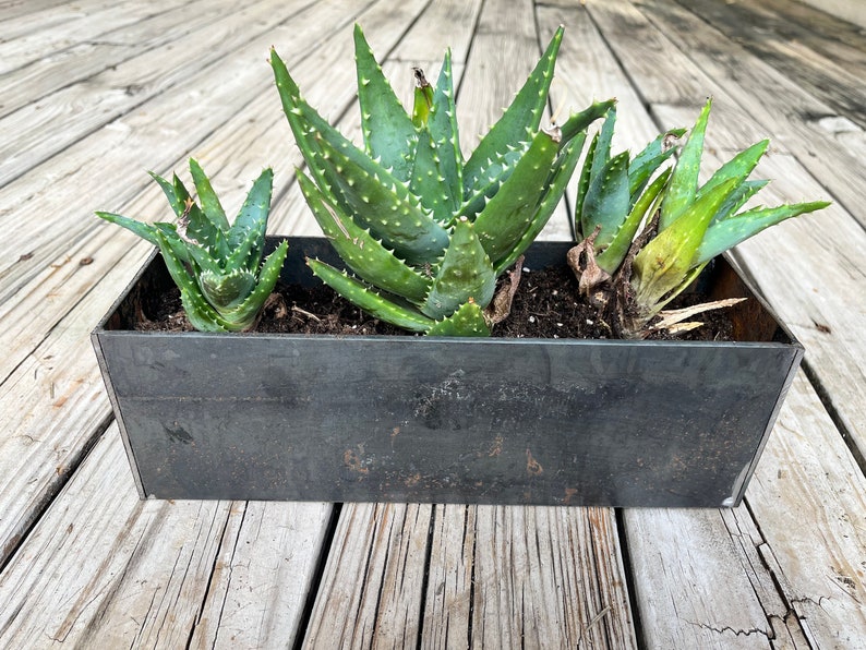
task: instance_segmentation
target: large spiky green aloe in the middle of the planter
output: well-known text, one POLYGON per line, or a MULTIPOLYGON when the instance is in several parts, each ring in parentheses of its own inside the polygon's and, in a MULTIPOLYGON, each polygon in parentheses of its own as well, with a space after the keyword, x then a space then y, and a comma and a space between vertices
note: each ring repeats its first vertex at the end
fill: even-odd
POLYGON ((541 232, 577 166, 587 125, 613 105, 597 103, 561 128, 541 128, 562 36, 557 31, 468 159, 460 151, 450 52, 435 86, 416 70, 409 112, 356 25, 364 142, 358 148, 301 97, 272 50, 277 89, 309 171, 298 171, 300 188, 348 267, 308 260, 313 273, 398 327, 489 335, 507 312, 494 301, 498 276, 541 232))

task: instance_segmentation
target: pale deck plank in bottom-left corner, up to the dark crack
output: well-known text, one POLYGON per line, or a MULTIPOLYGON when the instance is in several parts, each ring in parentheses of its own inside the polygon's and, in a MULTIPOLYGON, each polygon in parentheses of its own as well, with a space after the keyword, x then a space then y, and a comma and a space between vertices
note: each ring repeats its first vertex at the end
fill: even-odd
POLYGON ((229 503, 140 502, 112 426, 0 576, 0 645, 184 643, 237 515, 229 503))

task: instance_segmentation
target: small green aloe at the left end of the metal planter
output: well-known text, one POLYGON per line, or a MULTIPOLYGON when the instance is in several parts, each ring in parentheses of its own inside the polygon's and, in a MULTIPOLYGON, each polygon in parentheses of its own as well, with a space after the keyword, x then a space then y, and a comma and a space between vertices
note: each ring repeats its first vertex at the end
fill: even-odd
POLYGON ((253 182, 229 226, 211 181, 193 159, 190 172, 201 206, 177 174, 170 182, 151 173, 168 197, 177 222, 147 224, 113 213, 96 214, 159 248, 193 327, 202 332, 250 329, 274 290, 288 251, 284 241, 262 262, 274 173, 265 169, 253 182))

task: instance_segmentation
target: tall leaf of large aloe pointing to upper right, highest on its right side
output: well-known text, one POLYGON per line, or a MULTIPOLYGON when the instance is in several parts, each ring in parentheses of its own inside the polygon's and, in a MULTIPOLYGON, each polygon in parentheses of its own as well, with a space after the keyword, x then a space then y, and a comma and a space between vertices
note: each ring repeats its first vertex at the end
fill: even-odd
POLYGON ((483 179, 489 176, 486 169, 491 161, 501 160, 509 146, 525 139, 527 132, 534 133, 539 130, 548 104, 548 92, 553 81, 553 70, 562 38, 563 27, 560 27, 512 105, 481 139, 478 147, 466 161, 464 196, 476 193, 479 181, 483 183, 483 179))

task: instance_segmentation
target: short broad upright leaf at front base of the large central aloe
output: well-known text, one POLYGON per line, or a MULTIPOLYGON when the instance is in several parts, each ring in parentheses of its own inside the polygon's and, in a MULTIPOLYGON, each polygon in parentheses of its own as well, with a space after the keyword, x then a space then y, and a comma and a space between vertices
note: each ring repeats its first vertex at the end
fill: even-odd
POLYGON ((421 311, 438 320, 454 313, 469 299, 486 306, 495 289, 496 274, 490 257, 476 234, 476 228, 464 217, 454 226, 450 244, 421 311))

